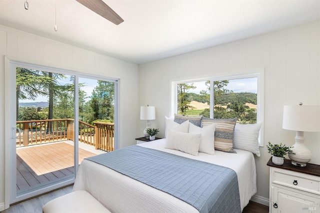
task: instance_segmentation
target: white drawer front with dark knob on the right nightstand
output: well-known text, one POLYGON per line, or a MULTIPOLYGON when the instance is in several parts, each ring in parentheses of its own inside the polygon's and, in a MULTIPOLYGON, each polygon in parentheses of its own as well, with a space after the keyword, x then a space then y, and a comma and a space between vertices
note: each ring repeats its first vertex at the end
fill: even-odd
POLYGON ((273 170, 272 183, 320 194, 320 180, 287 170, 273 170))

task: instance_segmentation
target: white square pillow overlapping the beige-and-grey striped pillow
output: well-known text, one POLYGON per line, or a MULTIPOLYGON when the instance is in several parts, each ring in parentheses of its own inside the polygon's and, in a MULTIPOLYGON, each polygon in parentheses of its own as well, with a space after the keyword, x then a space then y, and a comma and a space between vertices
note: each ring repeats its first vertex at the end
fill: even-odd
POLYGON ((202 128, 189 123, 189 133, 200 133, 201 141, 199 146, 199 152, 204 152, 209 155, 214 155, 214 130, 216 124, 204 126, 202 128))

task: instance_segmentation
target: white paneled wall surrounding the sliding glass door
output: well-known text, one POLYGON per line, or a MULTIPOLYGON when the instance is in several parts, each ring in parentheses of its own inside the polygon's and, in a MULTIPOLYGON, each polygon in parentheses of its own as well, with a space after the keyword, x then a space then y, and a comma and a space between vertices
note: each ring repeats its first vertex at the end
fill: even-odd
POLYGON ((27 63, 119 79, 119 148, 135 143, 138 66, 0 25, 0 211, 4 203, 4 55, 27 63), (122 134, 125 133, 125 134, 122 134))

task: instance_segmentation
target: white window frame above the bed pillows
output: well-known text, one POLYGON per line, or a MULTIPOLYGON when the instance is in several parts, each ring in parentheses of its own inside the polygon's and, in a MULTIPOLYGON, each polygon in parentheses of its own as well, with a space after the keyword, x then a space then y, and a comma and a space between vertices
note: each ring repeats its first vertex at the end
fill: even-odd
POLYGON ((233 80, 240 78, 257 78, 257 115, 256 123, 261 123, 260 134, 259 134, 259 146, 263 147, 263 121, 264 121, 264 68, 254 68, 238 70, 233 72, 221 72, 215 73, 208 76, 193 76, 184 77, 180 79, 170 80, 170 100, 169 100, 169 117, 173 118, 174 114, 177 112, 177 84, 180 83, 192 83, 197 81, 210 80, 210 118, 213 117, 213 82, 220 80, 233 80))

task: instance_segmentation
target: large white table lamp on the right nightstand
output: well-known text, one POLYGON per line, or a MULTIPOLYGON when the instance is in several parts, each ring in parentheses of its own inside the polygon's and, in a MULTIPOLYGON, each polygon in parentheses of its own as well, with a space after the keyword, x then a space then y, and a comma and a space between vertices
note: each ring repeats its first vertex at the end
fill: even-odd
POLYGON ((320 131, 320 107, 319 106, 284 106, 282 129, 296 131, 293 153, 288 157, 291 164, 305 167, 311 160, 311 152, 304 146, 304 132, 320 131))

